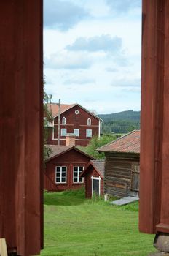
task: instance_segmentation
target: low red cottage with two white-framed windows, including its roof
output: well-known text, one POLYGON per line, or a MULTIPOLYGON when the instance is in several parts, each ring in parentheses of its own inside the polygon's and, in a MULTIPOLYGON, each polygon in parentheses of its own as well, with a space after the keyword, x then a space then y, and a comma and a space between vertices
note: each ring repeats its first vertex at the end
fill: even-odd
POLYGON ((50 146, 52 153, 44 170, 44 189, 63 191, 84 186, 80 174, 93 157, 75 146, 50 146))

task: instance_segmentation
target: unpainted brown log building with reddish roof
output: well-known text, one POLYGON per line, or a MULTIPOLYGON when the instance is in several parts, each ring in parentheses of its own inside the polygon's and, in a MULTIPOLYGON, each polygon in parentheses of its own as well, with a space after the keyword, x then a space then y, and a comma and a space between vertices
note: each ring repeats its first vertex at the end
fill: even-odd
POLYGON ((140 173, 140 130, 98 148, 106 155, 104 193, 108 196, 137 196, 140 173))

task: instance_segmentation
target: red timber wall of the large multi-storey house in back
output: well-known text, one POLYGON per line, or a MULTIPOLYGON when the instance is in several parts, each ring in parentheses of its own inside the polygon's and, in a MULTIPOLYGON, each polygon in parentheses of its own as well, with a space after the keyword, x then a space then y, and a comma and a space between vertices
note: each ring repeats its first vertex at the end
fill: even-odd
MULTIPOLYGON (((54 121, 55 127, 55 138, 58 138, 58 117, 54 121)), ((60 115, 60 130, 66 128, 67 133, 74 133, 74 129, 79 129, 79 137, 76 137, 75 146, 87 146, 91 138, 86 137, 86 130, 92 129, 92 135, 98 136, 99 134, 99 120, 95 116, 90 115, 84 109, 80 108, 78 105, 67 110, 65 113, 60 115), (79 110, 79 114, 75 114, 75 110, 79 110), (62 118, 66 117, 66 125, 62 124, 62 118), (87 118, 91 118, 91 125, 87 125, 87 118)), ((48 144, 57 145, 58 140, 52 140, 52 132, 50 129, 48 144)), ((60 145, 66 145, 66 137, 60 136, 60 145)))

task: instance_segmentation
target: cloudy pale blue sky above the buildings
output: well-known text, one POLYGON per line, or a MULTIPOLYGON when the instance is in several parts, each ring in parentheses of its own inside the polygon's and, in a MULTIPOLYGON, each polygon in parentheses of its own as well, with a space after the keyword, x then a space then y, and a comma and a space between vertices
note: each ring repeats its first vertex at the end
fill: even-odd
POLYGON ((95 113, 141 108, 141 0, 44 0, 52 102, 95 113))

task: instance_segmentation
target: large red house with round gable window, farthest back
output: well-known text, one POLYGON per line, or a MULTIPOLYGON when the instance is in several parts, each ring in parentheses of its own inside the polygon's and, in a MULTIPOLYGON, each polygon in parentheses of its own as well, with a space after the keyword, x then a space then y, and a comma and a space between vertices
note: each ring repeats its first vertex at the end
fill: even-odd
POLYGON ((74 134, 76 135, 76 146, 87 146, 94 135, 100 136, 101 118, 98 118, 81 105, 61 104, 59 109, 58 103, 50 103, 47 107, 52 114, 52 123, 47 127, 47 144, 66 145, 66 135, 74 134), (60 130, 59 143, 58 129, 60 130))

